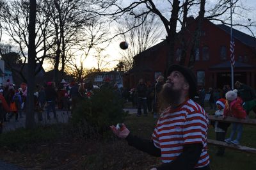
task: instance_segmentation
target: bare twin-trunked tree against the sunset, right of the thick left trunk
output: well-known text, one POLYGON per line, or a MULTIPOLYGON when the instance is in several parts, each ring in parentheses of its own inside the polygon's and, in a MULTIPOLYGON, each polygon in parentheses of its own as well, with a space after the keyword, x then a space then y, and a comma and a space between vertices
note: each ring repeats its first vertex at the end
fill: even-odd
POLYGON ((84 0, 51 0, 47 1, 51 9, 52 29, 55 32, 55 45, 52 48, 54 54, 54 81, 58 82, 63 77, 64 66, 67 63, 67 50, 81 42, 81 31, 88 23, 89 13, 82 12, 84 0), (61 65, 61 66, 60 66, 61 65), (59 67, 61 77, 59 77, 59 67))

